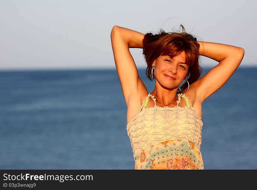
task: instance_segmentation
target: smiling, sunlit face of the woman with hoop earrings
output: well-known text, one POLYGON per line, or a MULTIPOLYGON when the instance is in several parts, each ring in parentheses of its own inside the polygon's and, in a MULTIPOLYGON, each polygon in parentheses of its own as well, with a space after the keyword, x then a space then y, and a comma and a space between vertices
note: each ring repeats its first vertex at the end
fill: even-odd
POLYGON ((154 60, 153 66, 156 82, 168 89, 177 89, 188 73, 184 51, 173 58, 160 55, 154 60))

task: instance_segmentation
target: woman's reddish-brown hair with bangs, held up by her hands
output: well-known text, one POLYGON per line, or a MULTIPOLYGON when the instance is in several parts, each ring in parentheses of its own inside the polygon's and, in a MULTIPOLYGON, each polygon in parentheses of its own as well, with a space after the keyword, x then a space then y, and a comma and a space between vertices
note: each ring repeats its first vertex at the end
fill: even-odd
MULTIPOLYGON (((157 34, 147 33, 143 39, 143 54, 147 64, 146 76, 152 80, 152 62, 160 55, 168 55, 173 58, 185 51, 185 64, 189 66, 187 81, 192 84, 198 80, 202 74, 202 68, 199 65, 199 43, 197 39, 185 32, 182 27, 182 32, 165 32, 160 30, 157 34)), ((154 75, 154 73, 153 73, 154 75)), ((184 91, 188 84, 185 82, 180 89, 184 91)), ((178 89, 177 93, 180 90, 178 89)))

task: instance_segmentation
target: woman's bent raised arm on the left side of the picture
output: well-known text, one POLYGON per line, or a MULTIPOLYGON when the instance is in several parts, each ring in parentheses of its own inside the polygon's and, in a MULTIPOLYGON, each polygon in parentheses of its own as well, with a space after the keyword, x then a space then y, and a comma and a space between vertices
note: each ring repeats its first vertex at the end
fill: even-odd
MULTIPOLYGON (((144 34, 114 26, 111 31, 112 51, 121 89, 128 107, 131 98, 140 98, 147 89, 138 76, 138 70, 129 48, 143 48, 144 34)), ((138 99, 139 101, 139 99, 138 99)))

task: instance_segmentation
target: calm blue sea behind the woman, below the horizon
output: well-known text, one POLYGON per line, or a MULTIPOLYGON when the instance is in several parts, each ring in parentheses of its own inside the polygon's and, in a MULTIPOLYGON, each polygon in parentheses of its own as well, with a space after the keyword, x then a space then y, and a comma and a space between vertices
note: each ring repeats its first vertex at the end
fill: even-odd
MULTIPOLYGON (((204 169, 257 169, 256 73, 239 67, 204 101, 204 169)), ((0 92, 0 169, 134 169, 115 68, 1 71, 0 92)))

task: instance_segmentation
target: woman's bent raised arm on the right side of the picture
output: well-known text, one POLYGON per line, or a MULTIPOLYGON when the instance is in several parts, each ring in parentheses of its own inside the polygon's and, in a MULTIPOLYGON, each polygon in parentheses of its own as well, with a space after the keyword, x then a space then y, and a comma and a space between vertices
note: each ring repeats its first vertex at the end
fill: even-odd
POLYGON ((219 64, 202 78, 197 80, 196 95, 203 102, 220 89, 232 76, 244 57, 244 49, 232 45, 197 41, 200 44, 199 55, 209 57, 219 64))

